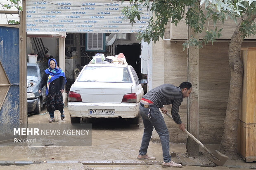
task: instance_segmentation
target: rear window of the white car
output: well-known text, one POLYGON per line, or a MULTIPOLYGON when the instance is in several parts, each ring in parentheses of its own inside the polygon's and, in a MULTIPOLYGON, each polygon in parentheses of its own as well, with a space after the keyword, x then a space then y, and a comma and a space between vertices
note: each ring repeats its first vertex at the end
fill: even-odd
POLYGON ((78 82, 114 82, 132 83, 127 68, 119 67, 86 67, 78 82))

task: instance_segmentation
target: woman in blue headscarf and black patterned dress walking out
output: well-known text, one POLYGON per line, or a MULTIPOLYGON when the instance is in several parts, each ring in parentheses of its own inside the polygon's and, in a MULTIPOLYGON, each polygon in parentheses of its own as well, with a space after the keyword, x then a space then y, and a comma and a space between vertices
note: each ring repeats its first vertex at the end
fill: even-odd
POLYGON ((43 86, 46 86, 47 111, 50 114, 50 120, 48 122, 52 123, 55 121, 55 110, 59 110, 62 120, 65 118, 62 93, 66 84, 66 77, 62 69, 58 67, 55 59, 51 58, 48 61, 48 65, 49 68, 45 70, 38 92, 41 93, 43 86))

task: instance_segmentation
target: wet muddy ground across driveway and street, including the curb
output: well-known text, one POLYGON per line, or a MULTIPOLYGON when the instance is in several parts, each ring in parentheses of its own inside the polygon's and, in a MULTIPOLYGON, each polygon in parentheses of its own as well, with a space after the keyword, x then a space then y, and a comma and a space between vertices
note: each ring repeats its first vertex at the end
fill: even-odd
MULTIPOLYGON (((42 110, 41 114, 28 116, 28 123, 48 123, 49 114, 42 110)), ((69 112, 64 108, 66 118, 60 119, 55 112, 55 122, 70 123, 69 112)), ((177 126, 178 128, 178 126, 177 126)), ((92 146, 0 146, 0 169, 54 169, 54 170, 161 170, 178 169, 162 168, 162 151, 159 142, 150 142, 148 154, 156 156, 154 161, 137 160, 137 154, 142 139, 143 124, 130 125, 124 119, 95 119, 92 121, 92 146)), ((217 145, 206 145, 211 151, 217 145)), ((240 160, 228 160, 222 167, 207 159, 207 154, 189 157, 186 154, 186 144, 170 143, 170 151, 177 156, 172 158, 176 163, 182 163, 185 170, 244 170, 256 169, 256 163, 246 163, 240 160)))

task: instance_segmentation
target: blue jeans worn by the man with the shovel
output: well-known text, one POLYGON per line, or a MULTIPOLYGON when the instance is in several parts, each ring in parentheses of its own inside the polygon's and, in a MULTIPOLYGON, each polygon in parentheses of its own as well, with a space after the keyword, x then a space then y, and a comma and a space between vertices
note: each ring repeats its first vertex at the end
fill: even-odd
POLYGON ((164 162, 168 163, 171 161, 171 155, 169 153, 169 131, 166 127, 164 117, 162 116, 158 107, 150 108, 150 119, 148 119, 147 117, 148 112, 149 108, 140 106, 140 115, 144 124, 144 132, 142 136, 139 154, 147 154, 147 148, 149 146, 149 141, 152 136, 152 131, 154 127, 161 140, 164 162))

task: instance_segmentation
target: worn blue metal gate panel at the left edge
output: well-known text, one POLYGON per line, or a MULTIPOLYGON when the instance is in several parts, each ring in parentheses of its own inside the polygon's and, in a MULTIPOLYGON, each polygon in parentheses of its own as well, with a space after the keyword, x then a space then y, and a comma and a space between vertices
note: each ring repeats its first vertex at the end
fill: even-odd
POLYGON ((0 123, 19 124, 19 28, 0 26, 0 123))

